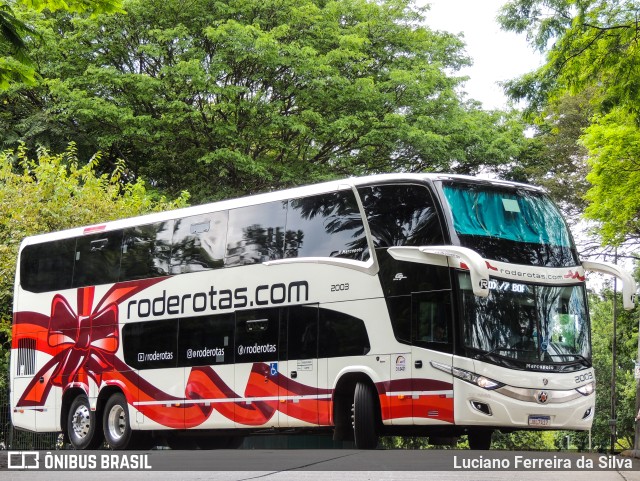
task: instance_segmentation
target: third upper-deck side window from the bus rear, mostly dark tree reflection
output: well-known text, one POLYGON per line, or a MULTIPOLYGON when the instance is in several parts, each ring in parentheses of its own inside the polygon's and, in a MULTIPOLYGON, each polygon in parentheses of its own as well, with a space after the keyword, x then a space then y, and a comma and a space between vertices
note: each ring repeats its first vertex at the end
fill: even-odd
POLYGON ((173 221, 125 229, 120 281, 169 275, 173 221))

